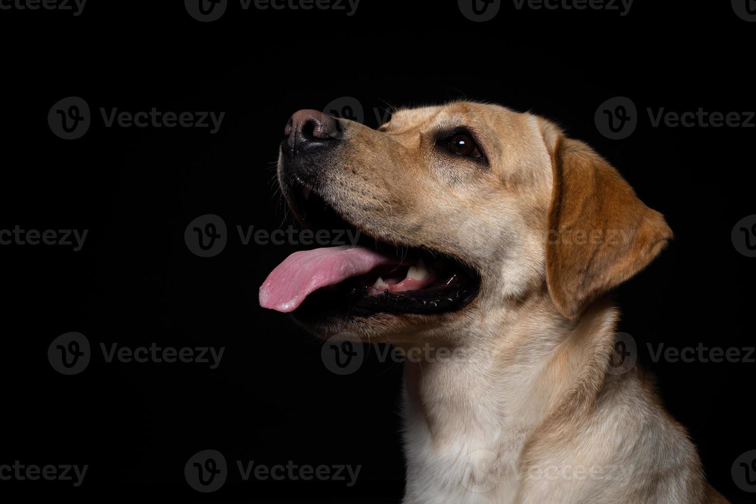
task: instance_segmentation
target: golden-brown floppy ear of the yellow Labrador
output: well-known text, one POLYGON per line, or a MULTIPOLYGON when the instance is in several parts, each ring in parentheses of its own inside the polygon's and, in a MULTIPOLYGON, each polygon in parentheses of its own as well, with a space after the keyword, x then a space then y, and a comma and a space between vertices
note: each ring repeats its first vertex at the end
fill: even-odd
POLYGON ((577 319, 603 292, 646 267, 672 238, 605 159, 541 121, 553 190, 546 244, 547 286, 559 312, 577 319))

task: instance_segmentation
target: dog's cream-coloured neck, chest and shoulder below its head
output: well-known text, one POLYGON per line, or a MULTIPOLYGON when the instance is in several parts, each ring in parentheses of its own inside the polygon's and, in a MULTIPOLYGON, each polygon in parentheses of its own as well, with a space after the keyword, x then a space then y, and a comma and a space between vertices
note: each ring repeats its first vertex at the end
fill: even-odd
POLYGON ((641 373, 609 373, 615 309, 568 323, 532 302, 448 360, 405 363, 404 504, 719 502, 641 373))

